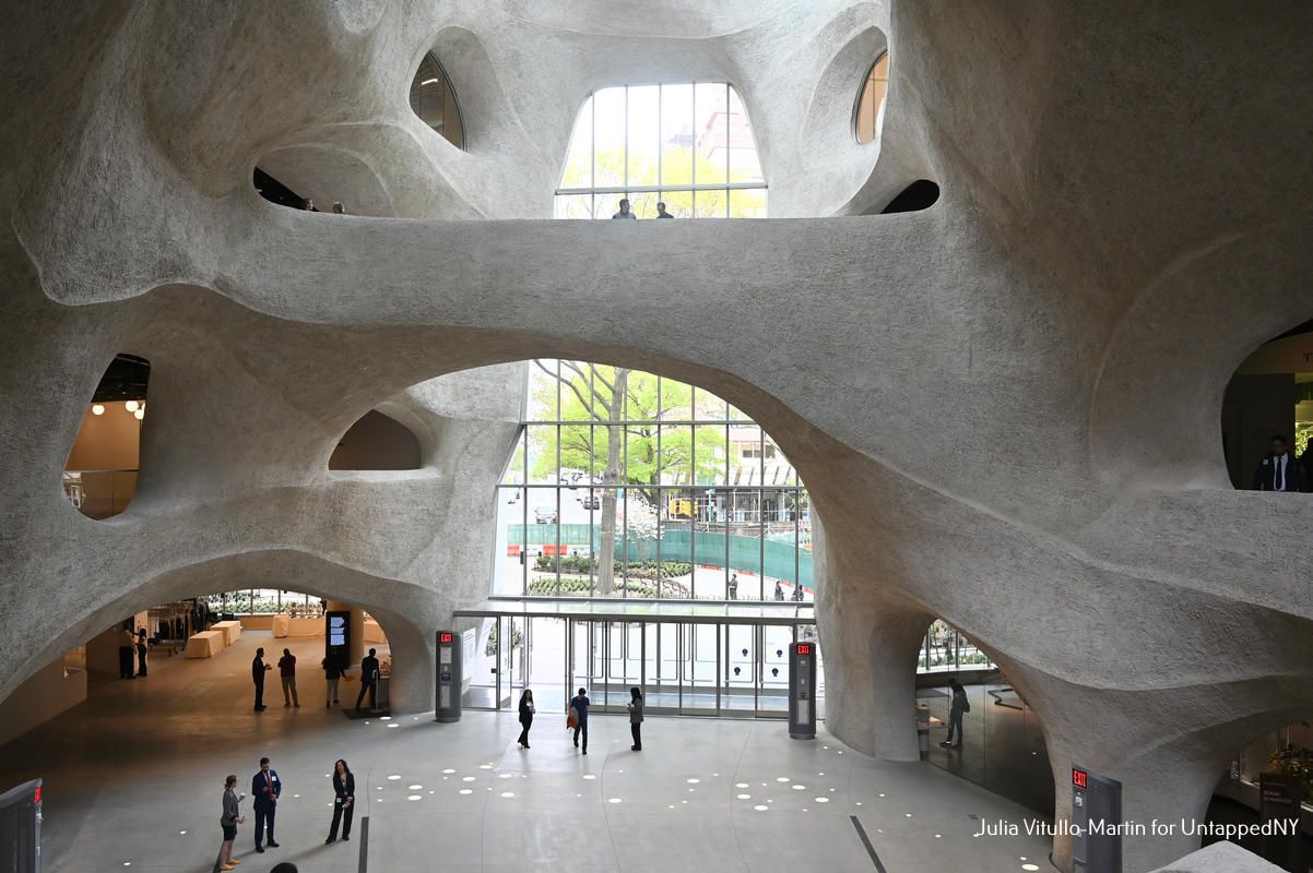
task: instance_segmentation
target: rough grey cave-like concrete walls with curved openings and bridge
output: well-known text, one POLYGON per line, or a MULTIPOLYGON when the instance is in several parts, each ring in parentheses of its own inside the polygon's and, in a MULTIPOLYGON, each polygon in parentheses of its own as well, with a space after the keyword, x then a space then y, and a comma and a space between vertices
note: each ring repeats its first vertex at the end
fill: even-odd
MULTIPOLYGON (((378 613, 423 708, 428 634, 486 590, 517 398, 507 370, 406 389, 559 354, 706 387, 794 460, 856 748, 914 755, 935 615, 1044 718, 1058 813, 1078 763, 1128 818, 1200 815, 1236 748, 1313 714, 1313 502, 1230 490, 1218 439, 1238 363, 1313 316, 1313 8, 704 5, 9 10, 0 693, 240 573, 378 613), (406 105, 431 47, 467 152, 406 105), (739 89, 780 220, 534 220, 591 89, 693 77, 739 89), (260 201, 267 156, 378 216, 260 201), (923 177, 932 208, 871 214, 923 177), (118 351, 152 360, 151 412, 133 506, 96 523, 58 473, 118 351), (379 404, 425 469, 328 475, 379 404)), ((1195 845, 1128 839, 1128 869, 1195 845)))

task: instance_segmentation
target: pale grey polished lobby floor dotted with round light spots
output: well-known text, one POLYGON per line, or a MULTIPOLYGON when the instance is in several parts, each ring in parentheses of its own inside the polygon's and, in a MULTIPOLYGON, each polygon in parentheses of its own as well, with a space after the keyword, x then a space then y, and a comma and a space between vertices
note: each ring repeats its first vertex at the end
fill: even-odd
MULTIPOLYGON (((368 869, 876 870, 856 817, 889 873, 1052 869, 1041 838, 973 835, 981 819, 1033 813, 930 764, 876 762, 823 730, 790 741, 779 721, 650 718, 630 751, 618 717, 592 721, 587 758, 563 716, 540 716, 532 748, 511 713, 351 721, 326 709, 322 641, 293 642, 306 665, 299 709, 270 678, 251 710, 249 661, 285 641, 247 633, 210 661, 156 658, 151 675, 92 684, 91 699, 0 747, 0 785, 46 780, 46 870, 202 873, 219 843, 223 777, 247 790, 261 755, 285 783, 281 848, 256 855, 252 817, 236 843, 246 873, 294 861, 311 873, 361 868, 352 840, 324 845, 328 772, 345 758, 368 817, 368 869)), ((355 699, 358 686, 343 686, 355 699)))

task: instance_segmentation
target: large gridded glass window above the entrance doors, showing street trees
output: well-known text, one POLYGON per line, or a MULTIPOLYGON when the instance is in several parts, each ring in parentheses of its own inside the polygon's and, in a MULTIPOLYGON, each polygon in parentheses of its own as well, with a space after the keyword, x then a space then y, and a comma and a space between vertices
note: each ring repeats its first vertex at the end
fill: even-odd
POLYGON ((687 383, 534 360, 494 594, 809 602, 811 507, 751 418, 687 383))

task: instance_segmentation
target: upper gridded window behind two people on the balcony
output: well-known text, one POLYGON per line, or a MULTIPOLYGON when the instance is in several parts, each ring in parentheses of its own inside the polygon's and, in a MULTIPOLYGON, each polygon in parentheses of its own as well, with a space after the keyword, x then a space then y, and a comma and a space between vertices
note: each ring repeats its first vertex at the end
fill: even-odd
POLYGON ((752 125, 726 83, 604 88, 575 121, 555 216, 765 218, 752 125))

